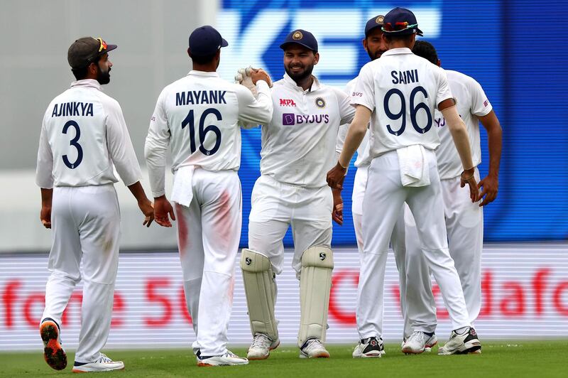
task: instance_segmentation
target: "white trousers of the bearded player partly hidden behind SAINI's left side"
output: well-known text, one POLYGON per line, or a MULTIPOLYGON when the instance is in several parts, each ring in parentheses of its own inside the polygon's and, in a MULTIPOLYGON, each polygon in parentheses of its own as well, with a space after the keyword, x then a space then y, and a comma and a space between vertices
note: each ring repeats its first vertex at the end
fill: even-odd
MULTIPOLYGON (((363 218, 363 200, 365 195, 365 189, 367 185, 367 178, 368 178, 368 166, 360 166, 357 168, 355 173, 355 179, 353 183, 353 194, 351 195, 351 215, 353 215, 353 226, 355 229, 355 237, 357 239, 357 249, 359 249, 359 261, 361 266, 363 264, 371 264, 376 265, 379 264, 378 261, 374 261, 376 259, 381 258, 381 254, 368 254, 366 255, 366 261, 364 262, 363 257, 363 226, 362 226, 362 218, 363 218)), ((405 229, 404 229, 404 218, 403 214, 401 213, 398 220, 395 222, 395 226, 393 228, 393 235, 391 237, 391 248, 393 249, 395 255, 395 263, 398 269, 398 276, 400 282, 406 281, 406 272, 405 272, 405 253, 406 253, 406 246, 405 246, 405 229)), ((381 280, 381 276, 373 275, 368 277, 368 284, 370 286, 382 286, 383 281, 381 280)), ((400 285, 400 312, 403 314, 403 318, 405 317, 405 286, 400 285)), ((379 306, 366 306, 365 308, 364 318, 368 320, 369 323, 379 325, 379 334, 382 334, 382 318, 383 318, 383 310, 379 306)), ((406 337, 406 334, 404 335, 406 337)))

